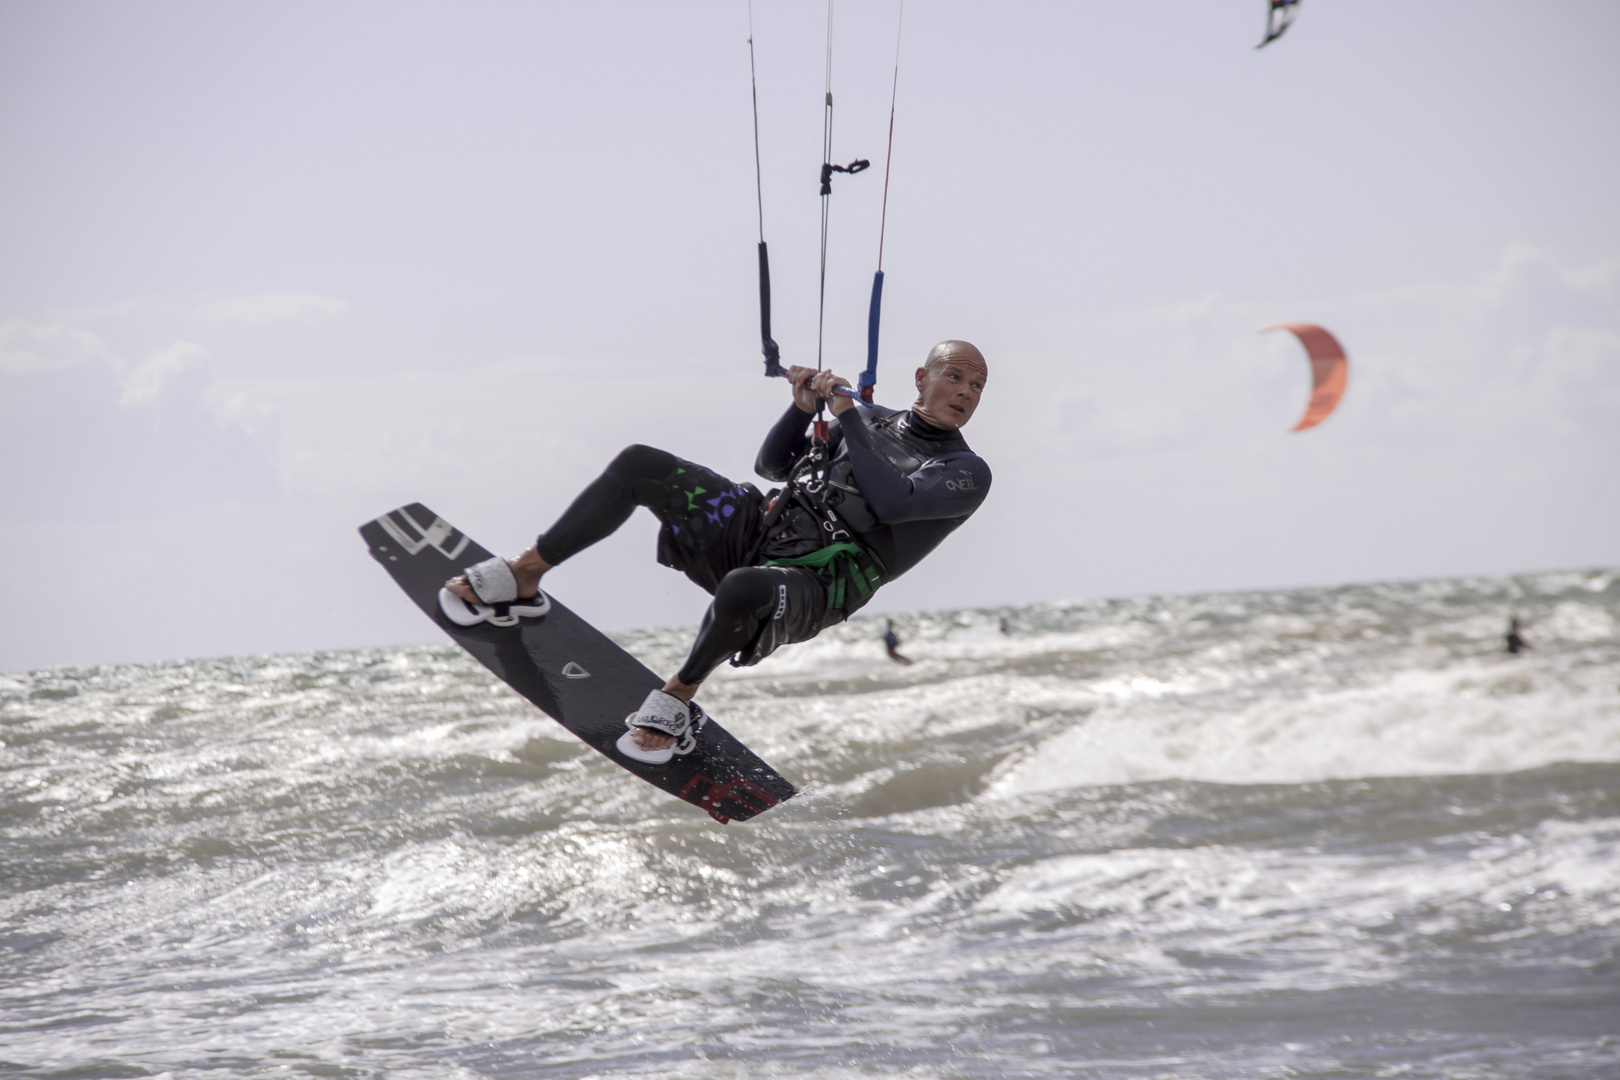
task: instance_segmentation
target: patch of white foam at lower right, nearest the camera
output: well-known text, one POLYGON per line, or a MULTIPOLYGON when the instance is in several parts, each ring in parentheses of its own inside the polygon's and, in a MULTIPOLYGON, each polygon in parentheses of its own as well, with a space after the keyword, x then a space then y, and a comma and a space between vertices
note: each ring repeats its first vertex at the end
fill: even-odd
POLYGON ((1545 821, 1448 855, 1223 845, 1059 855, 1011 871, 974 912, 991 923, 1063 916, 1077 939, 1071 950, 1090 941, 1119 959, 1124 949, 1139 970, 1176 972, 1171 949, 1196 942, 1205 952, 1309 957, 1309 967, 1273 978, 1293 989, 1340 986, 1398 976, 1406 959, 1392 944, 1456 933, 1487 912, 1518 910, 1521 934, 1620 923, 1617 844, 1620 823, 1597 819, 1545 821))

